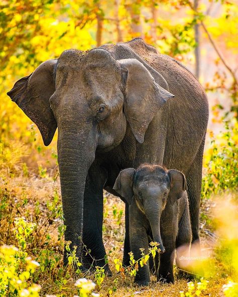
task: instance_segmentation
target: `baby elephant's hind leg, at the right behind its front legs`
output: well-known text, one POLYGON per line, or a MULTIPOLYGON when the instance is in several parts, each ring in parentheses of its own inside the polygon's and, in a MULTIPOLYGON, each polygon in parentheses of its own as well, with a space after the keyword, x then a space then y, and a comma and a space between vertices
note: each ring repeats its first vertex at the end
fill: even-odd
POLYGON ((189 266, 191 240, 191 223, 188 205, 186 205, 179 221, 178 235, 176 238, 176 265, 182 270, 187 270, 189 266))

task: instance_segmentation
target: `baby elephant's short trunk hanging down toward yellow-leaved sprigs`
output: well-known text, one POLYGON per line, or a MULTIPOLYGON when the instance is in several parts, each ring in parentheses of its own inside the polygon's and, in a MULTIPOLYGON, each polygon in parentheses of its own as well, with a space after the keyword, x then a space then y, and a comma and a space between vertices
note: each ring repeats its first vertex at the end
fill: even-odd
POLYGON ((150 214, 147 215, 147 218, 151 226, 153 241, 158 242, 158 248, 160 249, 160 253, 164 253, 165 248, 163 246, 160 234, 160 213, 160 211, 155 212, 155 210, 153 210, 153 213, 150 212, 150 214))

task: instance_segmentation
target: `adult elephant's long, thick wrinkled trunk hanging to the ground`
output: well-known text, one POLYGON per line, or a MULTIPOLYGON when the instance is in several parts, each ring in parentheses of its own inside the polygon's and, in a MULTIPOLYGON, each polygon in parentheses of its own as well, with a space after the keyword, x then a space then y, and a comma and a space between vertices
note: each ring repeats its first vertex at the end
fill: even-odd
MULTIPOLYGON (((58 163, 66 225, 65 240, 71 241, 70 250, 77 246, 76 255, 81 259, 84 188, 89 167, 95 158, 96 137, 92 125, 86 127, 81 121, 80 124, 62 121, 58 123, 58 129, 58 163)), ((67 263, 66 250, 64 263, 67 263)))

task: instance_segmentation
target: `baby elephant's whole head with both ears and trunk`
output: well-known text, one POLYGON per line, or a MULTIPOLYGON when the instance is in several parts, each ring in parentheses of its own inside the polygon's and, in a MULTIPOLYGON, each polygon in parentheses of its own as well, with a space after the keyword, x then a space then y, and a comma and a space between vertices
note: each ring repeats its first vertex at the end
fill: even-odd
POLYGON ((160 217, 166 203, 174 204, 187 190, 185 176, 177 170, 166 170, 158 165, 142 165, 137 170, 128 168, 118 175, 113 189, 129 205, 135 199, 151 226, 153 240, 161 253, 165 251, 160 235, 160 217))

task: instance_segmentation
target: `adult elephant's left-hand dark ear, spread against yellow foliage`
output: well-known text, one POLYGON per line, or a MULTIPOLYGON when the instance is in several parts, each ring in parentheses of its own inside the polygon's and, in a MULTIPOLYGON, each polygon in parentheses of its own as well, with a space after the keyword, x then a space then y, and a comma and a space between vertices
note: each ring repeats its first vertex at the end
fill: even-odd
POLYGON ((17 81, 7 94, 25 114, 38 126, 44 144, 49 145, 57 122, 49 99, 55 91, 54 66, 57 60, 42 63, 29 76, 17 81))

